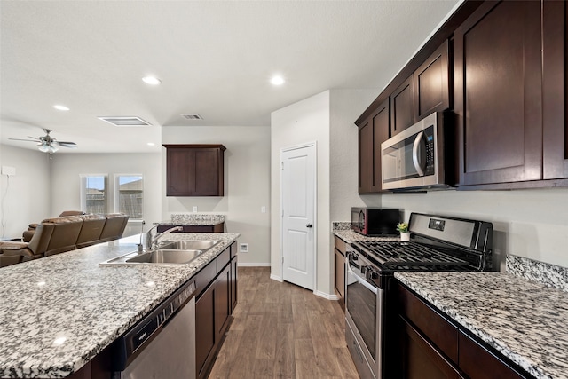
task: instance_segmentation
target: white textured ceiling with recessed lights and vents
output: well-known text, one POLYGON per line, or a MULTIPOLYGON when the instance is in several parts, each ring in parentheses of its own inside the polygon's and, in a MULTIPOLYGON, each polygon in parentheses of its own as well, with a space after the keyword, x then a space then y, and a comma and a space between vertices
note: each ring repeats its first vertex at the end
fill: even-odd
POLYGON ((1 142, 35 149, 8 138, 49 128, 74 153, 159 151, 162 127, 268 127, 272 111, 321 91, 378 95, 456 3, 2 0, 1 142), (276 73, 287 83, 273 87, 276 73))

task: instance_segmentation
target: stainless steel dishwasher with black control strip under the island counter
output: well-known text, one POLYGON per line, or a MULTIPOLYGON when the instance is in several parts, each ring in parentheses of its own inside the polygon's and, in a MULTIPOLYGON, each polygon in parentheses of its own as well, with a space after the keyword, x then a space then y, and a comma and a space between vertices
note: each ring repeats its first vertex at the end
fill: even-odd
POLYGON ((195 282, 177 289, 113 349, 113 379, 195 378, 195 282))

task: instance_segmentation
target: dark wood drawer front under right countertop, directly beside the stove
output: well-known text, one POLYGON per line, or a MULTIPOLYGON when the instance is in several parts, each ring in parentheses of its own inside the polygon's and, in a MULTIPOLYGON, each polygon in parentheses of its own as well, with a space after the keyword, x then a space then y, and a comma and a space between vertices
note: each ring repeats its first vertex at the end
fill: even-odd
POLYGON ((398 286, 398 299, 400 314, 457 364, 458 328, 402 286, 398 286))

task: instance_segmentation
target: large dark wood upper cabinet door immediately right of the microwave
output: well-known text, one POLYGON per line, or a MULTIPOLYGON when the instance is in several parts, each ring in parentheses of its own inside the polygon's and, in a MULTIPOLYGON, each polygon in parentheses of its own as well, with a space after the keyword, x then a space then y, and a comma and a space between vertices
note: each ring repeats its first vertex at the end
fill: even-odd
POLYGON ((458 185, 542 178, 540 2, 486 2, 454 44, 458 185))

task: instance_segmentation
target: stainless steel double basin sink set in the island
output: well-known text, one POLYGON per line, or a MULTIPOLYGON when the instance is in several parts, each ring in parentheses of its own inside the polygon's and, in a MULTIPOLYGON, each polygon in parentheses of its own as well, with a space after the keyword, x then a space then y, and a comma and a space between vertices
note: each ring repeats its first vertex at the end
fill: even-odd
POLYGON ((121 257, 109 259, 99 265, 186 265, 205 251, 213 248, 219 241, 163 241, 157 249, 133 251, 121 257))

